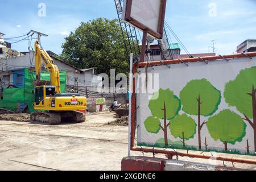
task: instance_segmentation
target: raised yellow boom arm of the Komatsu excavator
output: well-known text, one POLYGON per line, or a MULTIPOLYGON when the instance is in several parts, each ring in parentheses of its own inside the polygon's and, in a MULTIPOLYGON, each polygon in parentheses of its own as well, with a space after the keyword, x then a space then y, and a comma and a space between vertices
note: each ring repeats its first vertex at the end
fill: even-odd
POLYGON ((36 70, 36 80, 40 81, 41 74, 41 60, 44 66, 50 73, 51 85, 55 86, 55 91, 60 93, 60 72, 57 65, 54 63, 51 56, 48 55, 46 50, 44 50, 38 41, 35 42, 35 70, 36 70))

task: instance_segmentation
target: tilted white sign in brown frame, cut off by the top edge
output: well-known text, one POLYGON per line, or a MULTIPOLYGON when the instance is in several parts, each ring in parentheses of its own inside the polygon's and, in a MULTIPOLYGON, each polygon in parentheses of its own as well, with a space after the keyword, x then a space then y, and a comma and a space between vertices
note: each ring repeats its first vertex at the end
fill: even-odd
POLYGON ((156 39, 162 39, 166 0, 126 0, 123 19, 133 26, 147 30, 156 39))

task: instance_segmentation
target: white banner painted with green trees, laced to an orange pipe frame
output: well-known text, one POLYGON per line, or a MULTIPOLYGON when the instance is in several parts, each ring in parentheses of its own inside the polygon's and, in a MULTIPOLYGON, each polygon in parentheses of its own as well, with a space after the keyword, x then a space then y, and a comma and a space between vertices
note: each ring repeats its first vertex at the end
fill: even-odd
POLYGON ((152 68, 159 88, 137 93, 138 146, 255 155, 256 57, 152 68))

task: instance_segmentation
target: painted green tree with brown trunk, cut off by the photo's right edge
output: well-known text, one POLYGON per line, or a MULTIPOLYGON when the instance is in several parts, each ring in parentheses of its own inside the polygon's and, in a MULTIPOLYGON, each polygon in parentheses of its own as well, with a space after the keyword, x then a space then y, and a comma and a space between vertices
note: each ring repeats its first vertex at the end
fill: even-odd
POLYGON ((254 151, 256 152, 256 67, 243 69, 235 80, 225 86, 225 101, 240 111, 254 131, 254 151))

